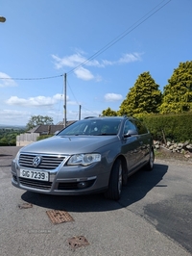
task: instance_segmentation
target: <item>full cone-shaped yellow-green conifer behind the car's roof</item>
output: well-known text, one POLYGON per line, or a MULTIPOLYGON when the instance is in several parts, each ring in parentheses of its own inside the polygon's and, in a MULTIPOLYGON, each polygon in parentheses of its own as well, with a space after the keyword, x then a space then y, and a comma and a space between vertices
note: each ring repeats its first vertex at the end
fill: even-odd
POLYGON ((118 115, 156 114, 160 104, 161 91, 150 72, 144 72, 122 102, 118 115))

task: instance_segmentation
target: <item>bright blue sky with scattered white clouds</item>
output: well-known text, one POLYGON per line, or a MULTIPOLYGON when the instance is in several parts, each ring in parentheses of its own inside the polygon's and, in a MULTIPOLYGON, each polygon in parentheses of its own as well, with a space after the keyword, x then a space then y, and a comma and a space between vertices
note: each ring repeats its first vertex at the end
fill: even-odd
POLYGON ((0 0, 0 124, 118 111, 143 72, 163 91, 192 61, 191 13, 192 0, 0 0))

